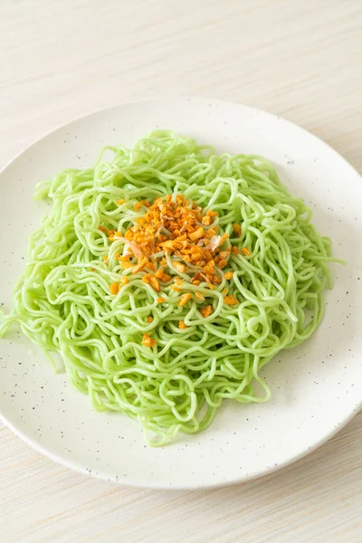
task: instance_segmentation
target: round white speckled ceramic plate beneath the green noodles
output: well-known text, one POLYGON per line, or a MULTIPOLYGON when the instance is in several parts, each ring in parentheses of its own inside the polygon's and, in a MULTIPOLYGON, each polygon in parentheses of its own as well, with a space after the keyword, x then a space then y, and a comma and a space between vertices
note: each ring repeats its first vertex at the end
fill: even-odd
POLYGON ((362 398, 362 181, 318 138, 259 110, 221 101, 153 100, 75 120, 37 141, 0 175, 0 303, 12 306, 28 234, 46 206, 37 181, 64 167, 90 167, 100 148, 175 129, 218 151, 270 158, 314 223, 348 266, 332 266, 335 287, 317 333, 275 357, 263 374, 265 405, 228 402, 214 424, 161 449, 146 446, 140 425, 98 414, 87 396, 54 375, 43 352, 19 333, 0 340, 0 411, 10 428, 53 460, 108 481, 153 488, 200 488, 246 481, 295 461, 356 414, 362 398))

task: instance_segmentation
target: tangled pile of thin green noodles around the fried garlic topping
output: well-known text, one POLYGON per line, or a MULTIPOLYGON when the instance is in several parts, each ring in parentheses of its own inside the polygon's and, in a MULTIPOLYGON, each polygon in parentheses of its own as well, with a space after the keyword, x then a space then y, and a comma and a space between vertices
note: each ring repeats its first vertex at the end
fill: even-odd
POLYGON ((226 398, 268 400, 261 367, 319 326, 323 291, 331 287, 329 238, 262 157, 216 156, 191 138, 156 131, 130 150, 104 148, 93 168, 63 170, 37 186, 36 198, 50 198, 52 211, 31 236, 0 336, 18 323, 51 358, 61 355, 71 383, 95 409, 137 418, 150 444, 203 430, 226 398), (227 286, 237 305, 224 305, 224 279, 210 290, 187 273, 180 291, 164 287, 159 304, 142 272, 124 271, 115 258, 123 242, 110 243, 99 225, 125 232, 142 214, 134 210, 139 200, 172 193, 217 211, 227 243, 252 252, 232 255, 224 269, 234 272, 227 286), (233 224, 241 224, 241 237, 233 224), (122 273, 129 283, 112 296, 110 283, 122 273), (212 315, 202 317, 195 299, 177 305, 193 291, 203 293, 212 315), (145 332, 156 347, 142 345, 145 332))

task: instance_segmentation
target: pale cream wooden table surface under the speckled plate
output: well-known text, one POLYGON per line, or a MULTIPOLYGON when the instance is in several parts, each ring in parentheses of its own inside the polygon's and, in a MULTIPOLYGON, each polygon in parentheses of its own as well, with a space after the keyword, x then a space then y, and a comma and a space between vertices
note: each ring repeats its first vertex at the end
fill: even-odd
MULTIPOLYGON (((362 171, 361 0, 2 0, 0 167, 44 133, 166 95, 290 119, 362 171)), ((271 476, 211 491, 87 479, 0 428, 0 541, 362 541, 362 413, 271 476)))

